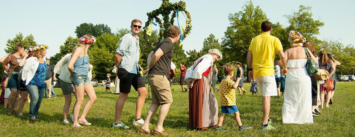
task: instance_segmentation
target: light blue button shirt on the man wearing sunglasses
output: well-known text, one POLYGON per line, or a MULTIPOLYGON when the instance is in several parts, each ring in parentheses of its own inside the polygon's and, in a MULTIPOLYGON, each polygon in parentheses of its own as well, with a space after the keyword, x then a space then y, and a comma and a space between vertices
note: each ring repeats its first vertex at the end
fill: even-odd
POLYGON ((122 36, 116 49, 116 54, 122 55, 118 68, 124 68, 129 73, 138 74, 139 49, 138 36, 137 41, 132 32, 122 36))

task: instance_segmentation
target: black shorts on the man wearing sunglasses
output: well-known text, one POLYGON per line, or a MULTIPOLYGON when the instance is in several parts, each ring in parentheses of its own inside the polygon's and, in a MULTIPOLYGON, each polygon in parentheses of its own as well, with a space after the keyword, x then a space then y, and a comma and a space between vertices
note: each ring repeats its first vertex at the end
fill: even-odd
POLYGON ((129 73, 124 68, 118 69, 118 79, 120 79, 120 92, 123 93, 131 92, 131 85, 136 91, 140 87, 146 87, 140 73, 138 74, 129 73))

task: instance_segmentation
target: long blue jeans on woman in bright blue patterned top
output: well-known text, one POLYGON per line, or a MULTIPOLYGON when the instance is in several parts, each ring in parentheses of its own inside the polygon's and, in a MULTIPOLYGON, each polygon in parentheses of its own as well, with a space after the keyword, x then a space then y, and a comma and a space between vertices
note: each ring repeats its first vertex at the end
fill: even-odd
POLYGON ((31 103, 29 103, 29 117, 37 118, 38 109, 41 105, 45 89, 38 89, 35 85, 26 86, 26 89, 31 96, 31 103))

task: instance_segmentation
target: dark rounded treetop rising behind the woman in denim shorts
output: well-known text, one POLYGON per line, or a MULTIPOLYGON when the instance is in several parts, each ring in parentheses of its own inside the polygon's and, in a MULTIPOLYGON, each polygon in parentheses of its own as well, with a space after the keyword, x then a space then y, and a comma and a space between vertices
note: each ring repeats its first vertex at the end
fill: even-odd
POLYGON ((99 37, 104 33, 111 34, 111 28, 105 24, 81 23, 79 26, 76 26, 75 33, 78 38, 85 34, 99 37))

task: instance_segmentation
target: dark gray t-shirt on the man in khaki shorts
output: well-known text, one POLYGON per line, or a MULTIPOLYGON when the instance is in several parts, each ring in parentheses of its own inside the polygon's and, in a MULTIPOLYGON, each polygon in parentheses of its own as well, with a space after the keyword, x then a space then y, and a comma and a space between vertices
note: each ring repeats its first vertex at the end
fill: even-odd
POLYGON ((149 74, 165 75, 166 78, 168 78, 170 81, 169 71, 171 65, 171 57, 174 55, 173 41, 171 41, 169 38, 163 39, 159 42, 157 47, 154 48, 154 53, 158 50, 158 48, 163 51, 164 55, 160 57, 157 63, 155 63, 151 70, 149 70, 149 74))

